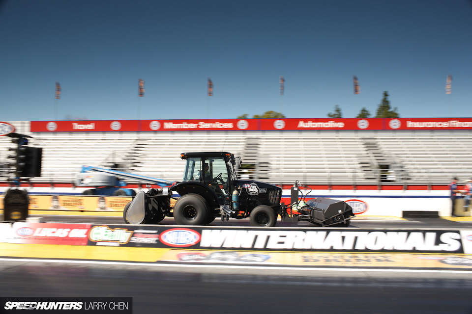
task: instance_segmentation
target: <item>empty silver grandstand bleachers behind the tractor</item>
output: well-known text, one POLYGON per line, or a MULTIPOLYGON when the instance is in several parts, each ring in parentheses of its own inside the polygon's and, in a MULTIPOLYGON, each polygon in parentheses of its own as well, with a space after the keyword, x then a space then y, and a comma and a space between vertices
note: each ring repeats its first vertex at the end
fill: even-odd
MULTIPOLYGON (((229 151, 240 177, 274 184, 447 184, 472 177, 472 131, 35 132, 9 122, 43 148, 37 183, 72 183, 82 165, 181 180, 180 153, 229 151)), ((0 137, 0 160, 13 147, 0 137)), ((2 178, 1 181, 6 181, 2 178)), ((132 181, 130 181, 132 182, 132 181)))

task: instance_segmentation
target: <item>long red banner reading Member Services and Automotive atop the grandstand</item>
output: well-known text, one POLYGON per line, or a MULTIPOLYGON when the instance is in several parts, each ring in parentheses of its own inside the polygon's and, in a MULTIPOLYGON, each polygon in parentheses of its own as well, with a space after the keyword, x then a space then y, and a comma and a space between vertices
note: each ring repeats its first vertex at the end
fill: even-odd
POLYGON ((472 130, 472 118, 31 121, 31 132, 472 130))

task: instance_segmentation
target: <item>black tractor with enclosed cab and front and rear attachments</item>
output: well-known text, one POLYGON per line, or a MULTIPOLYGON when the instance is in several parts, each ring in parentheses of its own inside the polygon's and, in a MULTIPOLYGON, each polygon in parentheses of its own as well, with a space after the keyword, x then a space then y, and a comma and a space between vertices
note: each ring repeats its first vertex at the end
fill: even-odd
MULTIPOLYGON (((249 217, 251 226, 273 227, 280 215, 283 221, 307 220, 320 226, 348 226, 349 219, 354 216, 345 202, 322 198, 316 199, 324 200, 326 208, 318 210, 322 214, 315 214, 316 208, 309 206, 313 202, 300 207, 297 201, 294 204, 297 211, 293 211, 292 205, 285 206, 280 202, 282 188, 270 183, 238 180, 235 165, 240 158, 231 153, 182 153, 180 157, 187 161, 183 180, 168 188, 138 192, 123 210, 126 223, 157 224, 164 217, 173 216, 179 225, 207 225, 217 217, 223 221, 249 217), (175 200, 173 207, 172 199, 175 200), (335 215, 324 217, 329 207, 329 212, 336 211, 335 215)), ((296 194, 298 200, 298 189, 296 194)))

